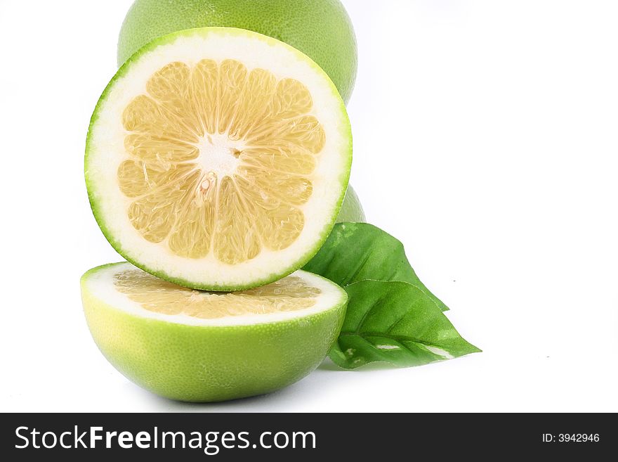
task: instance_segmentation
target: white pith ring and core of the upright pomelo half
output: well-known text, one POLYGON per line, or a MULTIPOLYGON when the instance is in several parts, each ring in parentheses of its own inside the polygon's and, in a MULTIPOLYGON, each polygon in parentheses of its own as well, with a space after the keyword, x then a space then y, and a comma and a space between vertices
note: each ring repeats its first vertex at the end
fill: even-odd
MULTIPOLYGON (((299 52, 282 46, 272 39, 246 32, 216 30, 208 34, 188 34, 177 37, 173 43, 162 44, 144 53, 129 72, 119 77, 100 103, 98 120, 91 128, 90 152, 86 177, 99 219, 104 222, 110 238, 117 241, 123 255, 155 274, 200 285, 204 281, 213 287, 244 286, 250 281, 263 281, 271 275, 283 276, 282 268, 294 264, 315 250, 316 241, 327 233, 327 226, 336 215, 342 188, 348 177, 350 151, 349 125, 341 101, 334 97, 334 87, 299 52), (124 148, 128 132, 121 115, 133 98, 147 94, 146 82, 152 74, 173 61, 190 66, 204 58, 221 62, 239 60, 248 70, 264 68, 277 78, 292 78, 305 84, 313 97, 310 115, 320 120, 326 134, 326 145, 317 155, 319 159, 311 175, 313 195, 298 208, 305 214, 305 227, 298 239, 287 249, 272 252, 263 248, 260 255, 234 266, 223 264, 209 253, 201 259, 188 259, 173 254, 166 245, 150 243, 133 228, 121 207, 129 207, 127 198, 117 183, 117 168, 131 159, 124 148)), ((223 138, 202 140, 197 162, 206 162, 219 175, 235 171, 235 162, 228 150, 233 148, 223 138)), ((204 171, 205 173, 208 170, 204 171)), ((202 188, 208 188, 204 177, 202 188)))

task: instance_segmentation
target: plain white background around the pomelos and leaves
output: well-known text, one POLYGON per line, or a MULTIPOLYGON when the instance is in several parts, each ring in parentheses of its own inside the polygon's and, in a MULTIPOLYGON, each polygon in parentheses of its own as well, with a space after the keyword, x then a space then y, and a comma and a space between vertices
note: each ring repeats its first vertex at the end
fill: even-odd
POLYGON ((1 411, 618 411, 618 3, 344 1, 369 222, 484 352, 339 371, 225 404, 117 373, 79 277, 121 259, 91 215, 86 129, 130 0, 0 0, 1 411))

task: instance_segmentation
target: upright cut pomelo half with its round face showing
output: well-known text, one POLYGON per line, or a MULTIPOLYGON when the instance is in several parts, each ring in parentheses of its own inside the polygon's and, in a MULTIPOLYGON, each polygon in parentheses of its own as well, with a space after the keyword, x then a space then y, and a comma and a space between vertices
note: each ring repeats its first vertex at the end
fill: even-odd
POLYGON ((107 86, 86 185, 107 240, 167 281, 241 290, 315 255, 352 160, 329 77, 280 41, 206 27, 153 41, 107 86))

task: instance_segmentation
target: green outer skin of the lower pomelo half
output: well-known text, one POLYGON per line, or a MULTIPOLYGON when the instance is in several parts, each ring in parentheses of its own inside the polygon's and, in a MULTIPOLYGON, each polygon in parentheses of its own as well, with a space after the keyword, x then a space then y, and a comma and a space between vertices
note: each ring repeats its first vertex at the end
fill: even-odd
POLYGON ((129 314, 103 302, 81 279, 96 345, 126 378, 159 396, 220 402, 265 394, 313 371, 337 339, 347 297, 326 311, 244 326, 189 326, 129 314))

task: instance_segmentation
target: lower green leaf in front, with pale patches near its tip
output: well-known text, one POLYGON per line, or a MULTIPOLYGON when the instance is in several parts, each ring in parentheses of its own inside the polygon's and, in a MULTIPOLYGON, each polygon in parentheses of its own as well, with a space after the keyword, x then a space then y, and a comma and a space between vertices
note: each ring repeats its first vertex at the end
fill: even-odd
POLYGON ((353 369, 374 361, 420 366, 481 350, 466 342, 416 285, 360 281, 346 287, 348 312, 329 357, 353 369))

